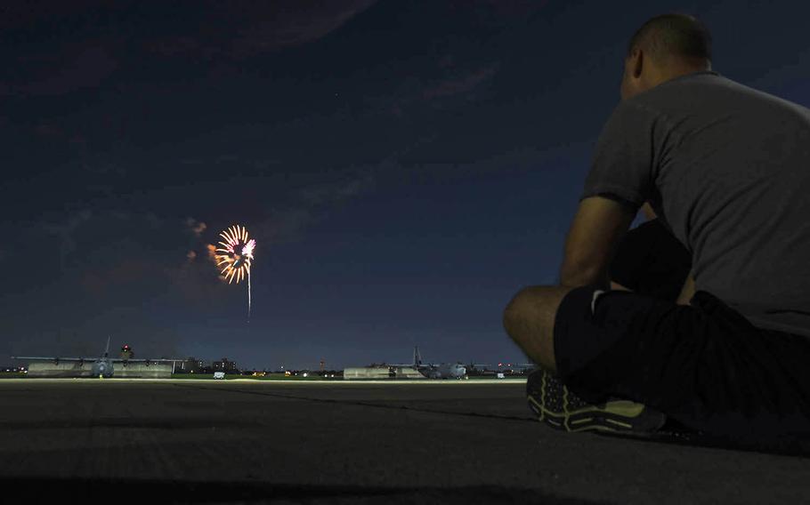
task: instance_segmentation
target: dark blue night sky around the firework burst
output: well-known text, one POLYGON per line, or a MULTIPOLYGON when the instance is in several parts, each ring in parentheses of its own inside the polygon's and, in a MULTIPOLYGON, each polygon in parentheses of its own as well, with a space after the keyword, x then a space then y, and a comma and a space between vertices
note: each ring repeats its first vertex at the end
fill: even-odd
MULTIPOLYGON (((810 105, 798 2, 4 2, 0 365, 523 361, 628 39, 703 20, 713 69, 810 105), (257 240, 247 284, 207 244, 257 240)), ((637 221, 636 221, 637 222, 637 221)))

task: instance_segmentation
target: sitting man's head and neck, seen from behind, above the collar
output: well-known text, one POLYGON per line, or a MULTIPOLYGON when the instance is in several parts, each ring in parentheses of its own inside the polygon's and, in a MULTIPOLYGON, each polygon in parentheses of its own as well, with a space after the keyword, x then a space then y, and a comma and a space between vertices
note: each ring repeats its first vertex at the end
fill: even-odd
POLYGON ((628 44, 621 79, 627 100, 677 76, 711 69, 711 35, 687 14, 656 16, 638 28, 628 44))

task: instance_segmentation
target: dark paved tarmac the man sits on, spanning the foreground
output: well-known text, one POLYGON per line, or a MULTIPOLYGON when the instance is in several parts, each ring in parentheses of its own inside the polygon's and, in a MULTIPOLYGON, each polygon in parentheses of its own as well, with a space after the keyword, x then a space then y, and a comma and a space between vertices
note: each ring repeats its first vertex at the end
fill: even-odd
POLYGON ((564 434, 531 420, 523 390, 0 381, 0 489, 28 502, 810 501, 806 458, 564 434))

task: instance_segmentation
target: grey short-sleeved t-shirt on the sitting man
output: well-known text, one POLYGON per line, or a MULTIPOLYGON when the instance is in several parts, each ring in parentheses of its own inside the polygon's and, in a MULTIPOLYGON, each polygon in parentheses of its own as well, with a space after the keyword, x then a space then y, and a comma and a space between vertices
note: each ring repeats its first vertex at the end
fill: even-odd
POLYGON ((810 109, 717 72, 623 100, 582 198, 650 201, 692 252, 696 291, 810 336, 810 109))

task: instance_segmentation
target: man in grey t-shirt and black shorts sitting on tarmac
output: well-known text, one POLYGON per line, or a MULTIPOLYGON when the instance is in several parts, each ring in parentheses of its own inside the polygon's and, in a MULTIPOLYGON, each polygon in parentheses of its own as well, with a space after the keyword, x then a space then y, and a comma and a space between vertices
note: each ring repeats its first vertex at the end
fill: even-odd
POLYGON ((712 71, 708 30, 683 14, 638 29, 620 94, 560 285, 504 313, 540 367, 530 405, 569 431, 669 419, 730 441, 810 438, 810 110, 712 71), (643 205, 655 224, 628 234, 643 205), (650 257, 672 251, 662 231, 687 261, 650 257))

